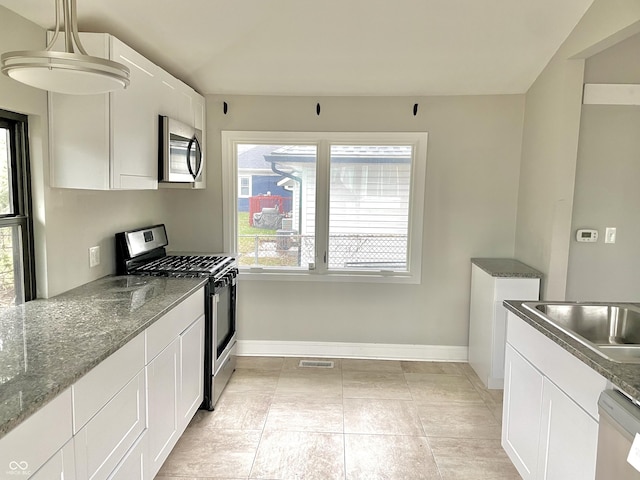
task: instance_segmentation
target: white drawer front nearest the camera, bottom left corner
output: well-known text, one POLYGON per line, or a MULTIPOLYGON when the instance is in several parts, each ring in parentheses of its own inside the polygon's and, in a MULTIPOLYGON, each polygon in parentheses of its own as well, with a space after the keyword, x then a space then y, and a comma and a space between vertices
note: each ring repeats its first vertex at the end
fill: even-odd
POLYGON ((25 472, 34 473, 70 439, 69 389, 0 440, 0 478, 26 478, 25 472))

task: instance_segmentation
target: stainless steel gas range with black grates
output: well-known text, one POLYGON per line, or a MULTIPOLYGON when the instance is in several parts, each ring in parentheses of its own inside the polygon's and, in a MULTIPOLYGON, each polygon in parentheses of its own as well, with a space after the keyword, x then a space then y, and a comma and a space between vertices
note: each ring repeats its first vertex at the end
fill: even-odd
POLYGON ((116 234, 116 273, 206 277, 204 401, 213 410, 236 365, 236 277, 238 264, 227 255, 168 255, 164 225, 116 234))

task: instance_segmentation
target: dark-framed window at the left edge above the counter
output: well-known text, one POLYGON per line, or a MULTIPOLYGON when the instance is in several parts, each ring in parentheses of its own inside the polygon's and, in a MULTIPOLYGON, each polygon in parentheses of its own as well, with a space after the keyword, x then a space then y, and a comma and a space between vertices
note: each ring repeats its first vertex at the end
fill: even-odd
POLYGON ((27 117, 0 110, 0 306, 35 298, 27 117))

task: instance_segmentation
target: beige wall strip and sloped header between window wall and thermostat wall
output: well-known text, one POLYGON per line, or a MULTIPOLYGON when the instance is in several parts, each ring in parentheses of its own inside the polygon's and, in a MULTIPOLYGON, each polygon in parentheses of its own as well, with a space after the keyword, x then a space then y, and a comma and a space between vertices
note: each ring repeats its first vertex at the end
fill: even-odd
POLYGON ((595 0, 526 95, 515 254, 565 298, 584 58, 637 31, 640 3, 595 0))

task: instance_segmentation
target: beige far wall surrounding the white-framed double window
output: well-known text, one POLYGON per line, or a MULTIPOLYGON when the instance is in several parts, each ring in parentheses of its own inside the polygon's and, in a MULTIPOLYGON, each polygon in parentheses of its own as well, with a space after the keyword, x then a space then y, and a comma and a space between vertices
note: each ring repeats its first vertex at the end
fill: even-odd
POLYGON ((522 118, 520 95, 209 96, 207 190, 195 196, 174 192, 168 206, 172 246, 222 249, 222 130, 427 131, 422 285, 241 279, 239 336, 466 345, 470 258, 513 255, 522 118), (229 105, 227 115, 223 101, 229 105), (414 103, 419 103, 415 117, 414 103))

